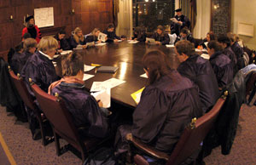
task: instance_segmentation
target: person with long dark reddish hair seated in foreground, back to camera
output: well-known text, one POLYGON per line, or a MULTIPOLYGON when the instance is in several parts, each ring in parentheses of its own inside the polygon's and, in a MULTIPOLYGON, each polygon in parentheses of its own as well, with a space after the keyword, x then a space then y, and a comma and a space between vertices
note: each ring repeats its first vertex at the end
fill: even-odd
POLYGON ((118 129, 116 153, 125 151, 125 138, 119 137, 129 132, 156 150, 171 153, 191 119, 203 114, 197 88, 189 78, 171 70, 166 54, 158 50, 144 55, 143 67, 148 85, 133 112, 132 126, 118 129))

